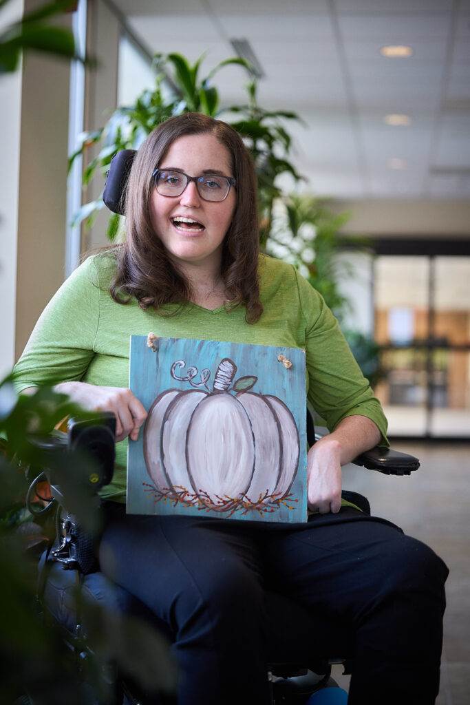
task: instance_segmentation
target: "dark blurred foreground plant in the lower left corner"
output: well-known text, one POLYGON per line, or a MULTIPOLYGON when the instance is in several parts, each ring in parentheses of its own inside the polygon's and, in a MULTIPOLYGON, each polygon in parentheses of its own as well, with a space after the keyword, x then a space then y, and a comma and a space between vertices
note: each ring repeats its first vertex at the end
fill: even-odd
MULTIPOLYGON (((34 439, 69 414, 86 417, 66 396, 50 388, 17 396, 11 377, 0 381, 0 656, 4 668, 0 700, 8 705, 94 705, 97 699, 103 705, 111 704, 111 684, 106 687, 100 677, 101 666, 110 658, 143 687, 172 693, 175 666, 168 645, 147 625, 87 604, 78 591, 82 614, 93 625, 89 639, 94 658, 83 680, 78 661, 64 646, 63 632, 38 611, 37 560, 54 529, 54 518, 39 518, 28 510, 28 472, 35 477, 42 467, 51 467, 51 455, 34 439)), ((52 462, 63 485, 67 483, 75 494, 80 522, 89 530, 96 529, 96 510, 89 510, 77 482, 82 458, 58 454, 52 462)), ((37 503, 42 504, 39 497, 37 503)))

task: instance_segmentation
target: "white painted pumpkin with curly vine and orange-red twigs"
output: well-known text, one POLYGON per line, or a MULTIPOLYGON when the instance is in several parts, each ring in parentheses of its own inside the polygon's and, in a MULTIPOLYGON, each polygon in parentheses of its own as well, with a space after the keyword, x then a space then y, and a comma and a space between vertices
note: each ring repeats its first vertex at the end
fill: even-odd
MULTIPOLYGON (((284 358, 285 359, 285 358, 284 358)), ((164 501, 183 501, 232 515, 288 505, 299 462, 299 431, 289 408, 272 394, 253 391, 258 378, 242 376, 229 357, 197 380, 197 369, 173 362, 171 377, 189 388, 161 392, 144 427, 144 460, 164 501)))

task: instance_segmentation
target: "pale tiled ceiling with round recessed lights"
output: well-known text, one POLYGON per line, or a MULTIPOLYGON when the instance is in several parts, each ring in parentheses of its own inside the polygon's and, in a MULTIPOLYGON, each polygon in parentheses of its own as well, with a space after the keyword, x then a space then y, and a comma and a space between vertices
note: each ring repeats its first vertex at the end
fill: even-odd
MULTIPOLYGON (((236 10, 233 0, 113 1, 153 51, 190 61, 207 51, 202 75, 233 56, 230 38, 247 39, 266 72, 261 105, 295 111, 308 125, 287 129, 315 192, 468 195, 462 174, 426 174, 431 154, 438 165, 470 163, 470 0, 290 0, 287 13, 285 0, 237 0, 236 10), (385 44, 410 44, 414 54, 385 59, 385 44), (390 112, 412 124, 390 128, 390 112), (391 157, 408 168, 390 169, 391 157)), ((245 79, 238 67, 216 76, 223 105, 245 102, 245 79)))

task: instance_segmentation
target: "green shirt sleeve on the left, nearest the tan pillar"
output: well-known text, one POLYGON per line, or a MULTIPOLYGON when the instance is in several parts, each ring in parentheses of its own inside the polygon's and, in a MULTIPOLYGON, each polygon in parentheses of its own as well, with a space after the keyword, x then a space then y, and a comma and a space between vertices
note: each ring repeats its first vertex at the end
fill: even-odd
POLYGON ((18 392, 82 379, 94 356, 100 290, 93 258, 63 283, 42 312, 13 368, 18 392))

